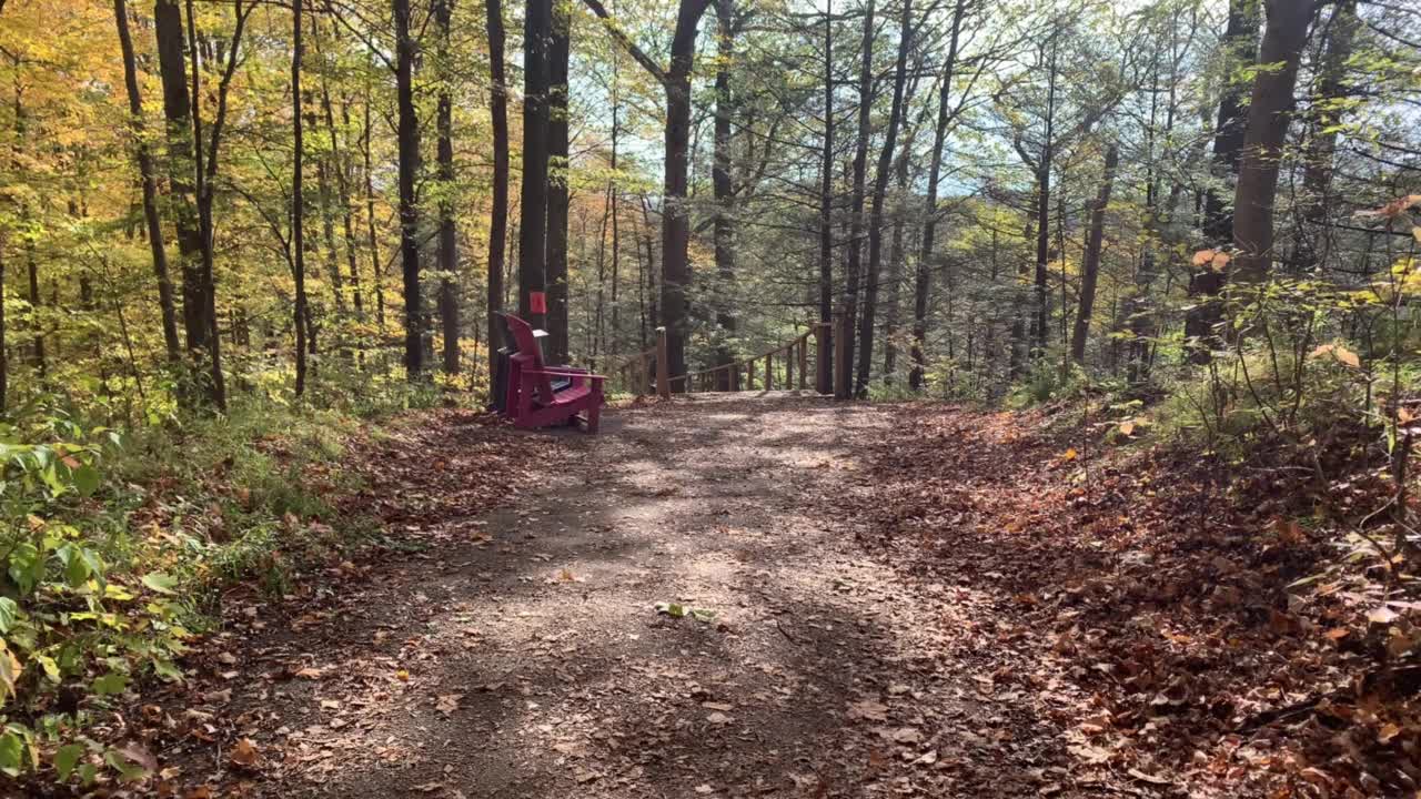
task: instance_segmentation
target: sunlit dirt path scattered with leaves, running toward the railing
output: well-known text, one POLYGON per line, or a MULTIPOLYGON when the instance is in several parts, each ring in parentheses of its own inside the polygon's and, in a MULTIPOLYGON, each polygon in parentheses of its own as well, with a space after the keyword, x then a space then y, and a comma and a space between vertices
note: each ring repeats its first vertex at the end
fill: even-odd
POLYGON ((992 692, 1010 651, 944 645, 945 630, 990 628, 973 596, 905 583, 823 502, 861 468, 850 444, 890 421, 807 397, 701 397, 614 411, 595 438, 448 431, 453 449, 496 435, 546 452, 536 488, 411 526, 429 549, 230 633, 264 677, 230 697, 206 685, 212 741, 182 782, 358 798, 1057 793, 1037 765, 1054 729, 1036 731, 1049 722, 1029 698, 992 692))

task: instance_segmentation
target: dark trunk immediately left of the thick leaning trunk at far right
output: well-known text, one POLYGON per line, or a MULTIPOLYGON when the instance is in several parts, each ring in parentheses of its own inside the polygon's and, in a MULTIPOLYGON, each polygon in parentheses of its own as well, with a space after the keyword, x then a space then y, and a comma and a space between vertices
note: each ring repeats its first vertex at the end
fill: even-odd
MULTIPOLYGON (((1229 21, 1223 31, 1226 84, 1219 94, 1218 122, 1214 128, 1212 171, 1216 181, 1235 181, 1239 173, 1239 152, 1243 149, 1243 129, 1248 122, 1245 85, 1235 73, 1252 65, 1258 54, 1258 7, 1262 0, 1229 0, 1229 21)), ((1233 209, 1226 192, 1209 188, 1204 195, 1204 240, 1211 247, 1233 242, 1233 209)), ((1205 363, 1215 348, 1215 327, 1222 318, 1218 294, 1223 290, 1223 273, 1205 264, 1189 276, 1192 304, 1185 311, 1184 336, 1189 360, 1205 363)))

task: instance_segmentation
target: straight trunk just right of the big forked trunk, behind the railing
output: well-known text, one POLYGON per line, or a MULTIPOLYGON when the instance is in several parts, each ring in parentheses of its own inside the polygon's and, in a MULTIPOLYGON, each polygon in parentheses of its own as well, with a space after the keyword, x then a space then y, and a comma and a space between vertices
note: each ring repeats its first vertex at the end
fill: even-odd
MULTIPOLYGON (((715 185, 715 266, 720 283, 716 301, 716 324, 725 337, 716 348, 715 363, 728 367, 735 363, 729 338, 735 336, 735 313, 729 293, 735 283, 735 192, 730 183, 730 117, 735 100, 730 95, 730 16, 735 0, 716 0, 716 71, 715 71, 715 163, 710 179, 715 185)), ((720 370, 715 378, 716 391, 735 390, 735 370, 720 370)))

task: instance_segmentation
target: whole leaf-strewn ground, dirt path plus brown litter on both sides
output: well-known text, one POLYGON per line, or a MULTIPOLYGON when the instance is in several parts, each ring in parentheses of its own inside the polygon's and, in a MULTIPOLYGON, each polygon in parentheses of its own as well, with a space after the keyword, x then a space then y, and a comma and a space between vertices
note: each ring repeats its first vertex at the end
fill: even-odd
MULTIPOLYGON (((111 729, 151 776, 101 790, 1415 795, 1417 608, 1377 559, 1295 523, 1317 498, 1286 472, 1054 422, 774 394, 598 436, 415 415, 347 459, 371 546, 229 596, 111 729)), ((1368 481, 1334 493, 1370 508, 1368 481)))

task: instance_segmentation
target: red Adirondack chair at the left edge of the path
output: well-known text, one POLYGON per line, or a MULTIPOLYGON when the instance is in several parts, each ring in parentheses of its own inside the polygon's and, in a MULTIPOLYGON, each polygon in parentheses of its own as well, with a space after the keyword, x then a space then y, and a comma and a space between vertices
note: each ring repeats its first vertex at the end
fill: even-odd
POLYGON ((503 404, 513 427, 534 429, 581 421, 587 432, 597 432, 605 378, 585 370, 544 365, 533 326, 513 314, 503 318, 519 350, 509 358, 509 388, 503 404), (568 385, 554 391, 553 378, 567 378, 568 385), (584 415, 578 417, 580 412, 584 415))

